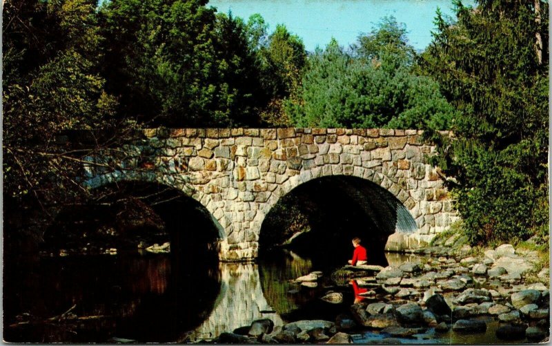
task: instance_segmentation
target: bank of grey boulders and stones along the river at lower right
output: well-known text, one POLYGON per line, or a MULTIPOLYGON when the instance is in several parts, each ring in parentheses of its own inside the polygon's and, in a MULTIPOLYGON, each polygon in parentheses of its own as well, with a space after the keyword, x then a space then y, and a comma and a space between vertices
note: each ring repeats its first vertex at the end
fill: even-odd
MULTIPOLYGON (((491 343, 548 338, 549 269, 539 268, 536 251, 510 244, 484 251, 441 244, 419 252, 433 256, 385 268, 347 266, 335 271, 335 285, 352 285, 355 291, 349 314, 282 327, 257 320, 213 341, 352 343, 359 334, 373 332, 380 336, 377 343, 395 344, 404 338, 439 338, 446 333, 482 334, 491 324, 495 334, 491 343)), ((315 283, 321 276, 315 272, 298 280, 315 283)), ((320 298, 332 303, 340 297, 328 291, 320 298)))

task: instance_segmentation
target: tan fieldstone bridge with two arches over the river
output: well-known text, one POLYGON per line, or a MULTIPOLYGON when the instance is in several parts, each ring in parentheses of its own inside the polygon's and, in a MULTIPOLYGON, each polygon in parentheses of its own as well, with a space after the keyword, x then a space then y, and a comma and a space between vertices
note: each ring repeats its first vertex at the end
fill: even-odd
MULTIPOLYGON (((451 135, 449 132, 441 135, 451 135)), ((349 175, 381 186, 414 229, 406 241, 431 240, 458 219, 435 145, 422 131, 344 128, 145 129, 121 157, 86 157, 85 185, 156 182, 200 202, 219 228, 219 258, 257 257, 262 222, 279 198, 319 177, 349 175), (98 162, 114 162, 116 169, 98 162)), ((396 240, 396 237, 395 237, 396 240)), ((400 240, 404 241, 404 240, 400 240)), ((388 247, 402 246, 389 244, 388 247)))

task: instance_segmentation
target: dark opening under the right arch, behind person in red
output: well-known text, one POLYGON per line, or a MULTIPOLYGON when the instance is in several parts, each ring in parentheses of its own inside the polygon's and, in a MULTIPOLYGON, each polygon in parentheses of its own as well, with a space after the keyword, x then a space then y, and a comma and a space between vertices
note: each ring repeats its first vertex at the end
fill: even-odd
POLYGON ((298 184, 270 209, 259 232, 259 256, 287 247, 299 255, 346 263, 351 239, 359 237, 368 262, 386 265, 388 236, 416 229, 408 209, 382 186, 351 175, 328 175, 298 184))

